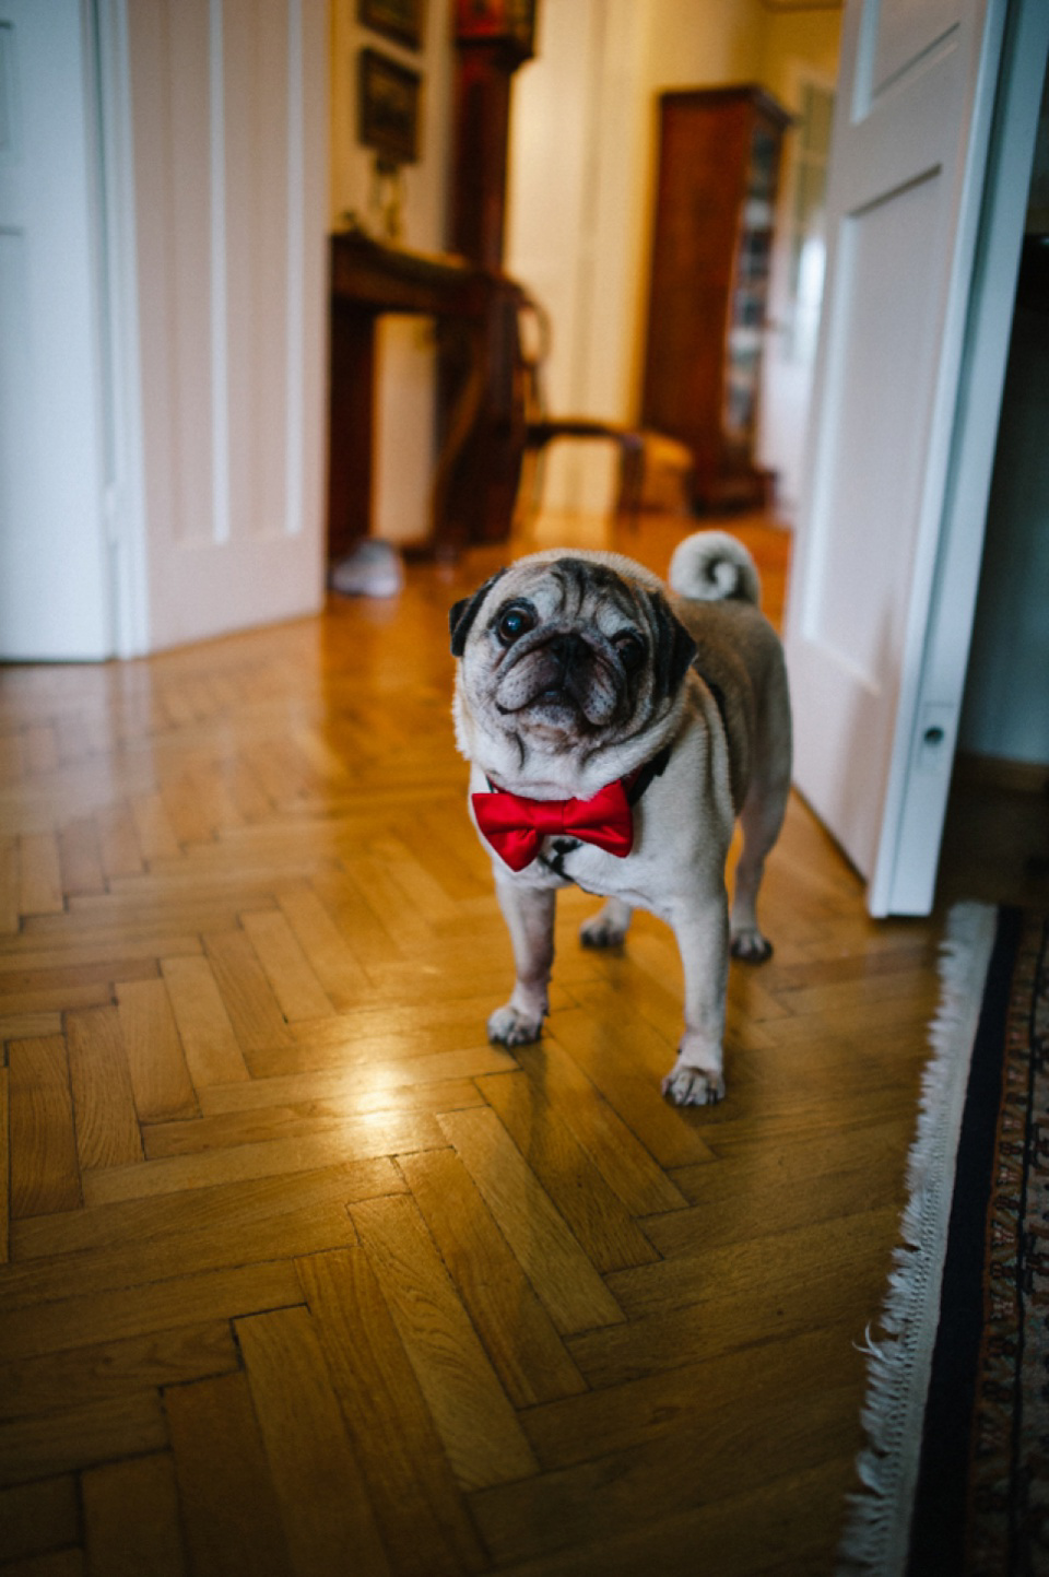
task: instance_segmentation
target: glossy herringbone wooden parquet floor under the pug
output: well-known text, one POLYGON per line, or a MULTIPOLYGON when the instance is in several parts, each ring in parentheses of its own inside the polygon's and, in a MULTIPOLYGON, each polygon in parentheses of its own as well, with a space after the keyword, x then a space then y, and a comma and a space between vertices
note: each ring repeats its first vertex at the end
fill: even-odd
POLYGON ((5 1577, 831 1569, 939 924, 795 801, 722 1105, 659 1096, 670 934, 584 951, 579 894, 491 1047, 446 610, 497 558, 0 670, 5 1577))

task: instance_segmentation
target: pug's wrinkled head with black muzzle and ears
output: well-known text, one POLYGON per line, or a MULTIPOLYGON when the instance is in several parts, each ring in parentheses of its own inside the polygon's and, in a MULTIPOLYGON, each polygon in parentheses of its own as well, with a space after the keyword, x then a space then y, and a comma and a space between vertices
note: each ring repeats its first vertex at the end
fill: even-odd
POLYGON ((522 759, 650 729, 696 650, 659 591, 576 557, 500 572, 453 607, 451 637, 470 714, 522 759))

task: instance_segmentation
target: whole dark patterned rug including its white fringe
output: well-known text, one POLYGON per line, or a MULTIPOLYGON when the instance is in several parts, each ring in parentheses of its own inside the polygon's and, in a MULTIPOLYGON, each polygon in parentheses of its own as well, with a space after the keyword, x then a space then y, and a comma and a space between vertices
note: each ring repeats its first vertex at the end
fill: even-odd
POLYGON ((951 910, 839 1574, 1049 1574, 1049 919, 951 910))

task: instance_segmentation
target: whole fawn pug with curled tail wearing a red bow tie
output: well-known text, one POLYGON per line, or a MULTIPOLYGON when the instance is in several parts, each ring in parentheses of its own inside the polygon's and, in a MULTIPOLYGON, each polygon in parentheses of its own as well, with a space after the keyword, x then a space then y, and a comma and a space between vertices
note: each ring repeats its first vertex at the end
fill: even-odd
POLYGON ((697 531, 675 549, 667 588, 618 554, 532 554, 454 604, 451 650, 470 817, 517 975, 489 1038, 539 1038, 557 889, 574 883, 606 899, 582 927, 587 946, 622 943, 637 907, 674 929, 685 1033, 663 1091, 678 1105, 719 1101, 729 954, 771 953, 757 891, 790 787, 786 665, 751 555, 697 531))

